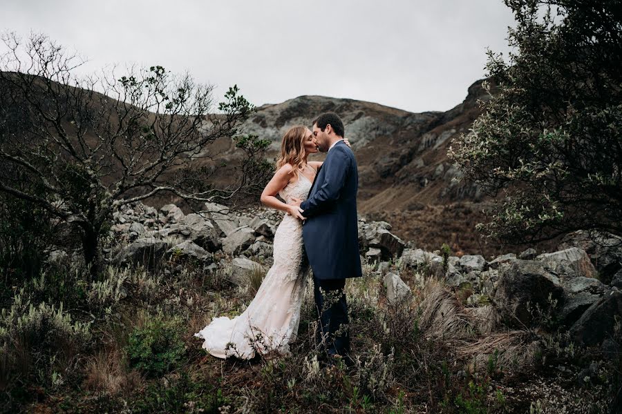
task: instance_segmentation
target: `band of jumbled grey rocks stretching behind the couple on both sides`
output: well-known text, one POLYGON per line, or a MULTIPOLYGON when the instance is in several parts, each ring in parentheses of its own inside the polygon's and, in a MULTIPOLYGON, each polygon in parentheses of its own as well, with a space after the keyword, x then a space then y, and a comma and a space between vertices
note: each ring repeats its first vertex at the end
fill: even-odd
MULTIPOLYGON (((188 215, 173 204, 156 210, 138 203, 114 215, 113 231, 126 244, 113 259, 151 269, 186 261, 205 272, 222 267, 225 259, 230 264, 225 279, 245 286, 272 265, 272 239, 281 217, 271 210, 233 212, 214 203, 188 215)), ((413 296, 398 272, 414 275, 415 283, 435 277, 455 290, 464 306, 493 306, 510 325, 525 328, 548 319, 571 327, 578 343, 601 344, 612 335, 622 308, 622 256, 614 237, 598 248, 581 237, 579 246, 566 244, 541 255, 529 249, 518 258, 508 253, 487 262, 481 255, 443 257, 416 248, 391 233, 385 221, 359 219, 362 259, 383 278, 390 303, 413 296), (599 278, 612 269, 617 270, 603 283, 599 278)))

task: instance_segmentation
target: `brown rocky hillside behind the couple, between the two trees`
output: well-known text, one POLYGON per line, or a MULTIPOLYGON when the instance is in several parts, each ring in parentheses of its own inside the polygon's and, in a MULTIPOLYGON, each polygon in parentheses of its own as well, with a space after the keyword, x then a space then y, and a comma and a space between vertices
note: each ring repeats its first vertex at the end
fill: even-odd
POLYGON ((272 141, 272 158, 288 128, 309 125, 321 112, 337 112, 357 157, 362 215, 388 221, 395 234, 422 248, 448 243, 454 251, 493 255, 504 248, 486 245, 475 233, 490 200, 477 186, 454 181, 460 171, 446 157, 451 138, 469 131, 481 113, 478 100, 487 99, 481 80, 446 112, 413 113, 352 99, 302 96, 261 106, 246 127, 272 141))

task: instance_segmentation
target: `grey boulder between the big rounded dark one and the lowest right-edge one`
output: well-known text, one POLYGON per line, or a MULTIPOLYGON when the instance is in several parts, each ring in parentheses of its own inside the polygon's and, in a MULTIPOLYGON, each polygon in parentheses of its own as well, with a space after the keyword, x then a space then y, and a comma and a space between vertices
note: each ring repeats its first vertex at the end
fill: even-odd
POLYGON ((560 309, 560 321, 569 326, 583 315, 587 308, 598 301, 605 286, 592 277, 573 277, 563 282, 564 306, 560 309))

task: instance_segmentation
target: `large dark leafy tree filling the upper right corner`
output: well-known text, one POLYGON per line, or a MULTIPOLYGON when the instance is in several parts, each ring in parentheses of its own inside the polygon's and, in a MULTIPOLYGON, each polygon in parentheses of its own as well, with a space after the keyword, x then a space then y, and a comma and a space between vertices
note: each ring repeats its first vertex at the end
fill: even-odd
POLYGON ((480 229, 510 243, 622 235, 622 2, 505 3, 514 52, 489 52, 498 89, 449 150, 466 179, 505 193, 480 229))

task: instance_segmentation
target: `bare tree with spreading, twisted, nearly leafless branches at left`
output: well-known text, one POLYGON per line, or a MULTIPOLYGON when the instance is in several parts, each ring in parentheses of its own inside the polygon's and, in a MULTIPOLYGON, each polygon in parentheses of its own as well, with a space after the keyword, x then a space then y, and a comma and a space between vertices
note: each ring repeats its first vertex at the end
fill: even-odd
POLYGON ((84 63, 43 34, 2 37, 0 191, 79 228, 95 275, 113 211, 170 192, 187 201, 230 199, 263 178, 266 141, 240 137, 254 107, 236 86, 225 101, 190 75, 161 66, 79 77, 84 63), (194 168, 209 144, 236 137, 245 159, 236 183, 216 188, 194 168), (27 180, 36 186, 20 186, 27 180), (23 188, 38 188, 37 192, 23 188))

